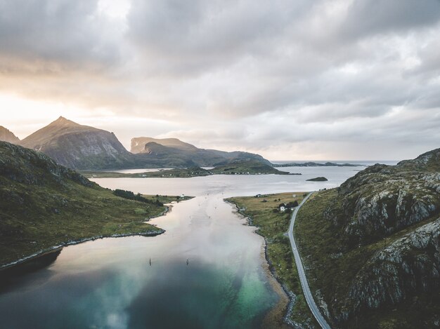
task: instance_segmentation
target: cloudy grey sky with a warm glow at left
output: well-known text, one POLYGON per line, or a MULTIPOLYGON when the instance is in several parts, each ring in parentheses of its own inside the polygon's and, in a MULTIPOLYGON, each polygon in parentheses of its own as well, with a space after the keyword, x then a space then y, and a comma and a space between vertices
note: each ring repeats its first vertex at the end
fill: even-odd
POLYGON ((440 0, 0 0, 0 125, 271 160, 440 147, 440 0))

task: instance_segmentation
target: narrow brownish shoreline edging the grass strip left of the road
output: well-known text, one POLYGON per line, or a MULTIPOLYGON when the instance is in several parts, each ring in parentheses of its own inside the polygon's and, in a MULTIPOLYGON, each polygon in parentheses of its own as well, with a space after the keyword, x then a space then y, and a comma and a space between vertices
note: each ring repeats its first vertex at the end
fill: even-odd
POLYGON ((238 213, 244 220, 246 220, 245 225, 249 227, 254 227, 254 233, 258 234, 264 239, 264 248, 261 248, 262 250, 260 253, 261 258, 264 258, 264 260, 266 261, 264 271, 266 271, 266 275, 268 276, 269 284, 271 285, 275 293, 278 294, 280 300, 277 302, 276 305, 274 305, 270 310, 267 311, 266 315, 264 316, 263 323, 261 324, 265 325, 264 328, 269 328, 274 325, 274 322, 279 322, 276 323, 278 325, 276 326, 276 328, 280 328, 279 325, 285 325, 286 328, 295 328, 295 323, 290 320, 290 315, 292 314, 292 309, 295 306, 297 296, 280 281, 275 271, 271 270, 272 262, 268 259, 266 238, 259 234, 259 227, 254 225, 254 222, 252 222, 252 218, 240 212, 240 209, 235 203, 226 201, 225 199, 224 202, 231 204, 231 206, 235 208, 235 213, 238 213), (273 317, 274 320, 267 323, 269 319, 273 317))

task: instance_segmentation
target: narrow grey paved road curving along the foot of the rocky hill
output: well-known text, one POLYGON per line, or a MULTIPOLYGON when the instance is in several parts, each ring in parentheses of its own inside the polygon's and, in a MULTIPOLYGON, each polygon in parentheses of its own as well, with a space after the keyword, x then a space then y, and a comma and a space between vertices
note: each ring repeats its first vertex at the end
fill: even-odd
POLYGON ((311 192, 308 194, 302 203, 295 208, 292 219, 290 220, 290 226, 289 226, 289 239, 290 239, 290 246, 292 246, 293 255, 295 255, 295 263, 297 263, 297 269, 299 274, 299 280, 301 281, 302 291, 304 292, 304 296, 306 297, 306 302, 309 305, 309 308, 311 310, 311 313, 313 313, 313 316, 315 316, 316 321, 321 325, 324 329, 330 329, 330 325, 328 325, 327 321, 325 321, 325 318, 322 316, 321 312, 319 311, 318 307, 316 306, 315 301, 313 300, 313 296, 311 295, 311 291, 309 288, 309 283, 307 282, 306 273, 304 272, 304 267, 302 266, 301 257, 299 257, 299 252, 297 248, 297 243, 295 242, 295 238, 293 237, 293 225, 295 225, 295 219, 297 217, 297 213, 299 208, 304 204, 304 202, 309 199, 309 197, 313 194, 311 192))

